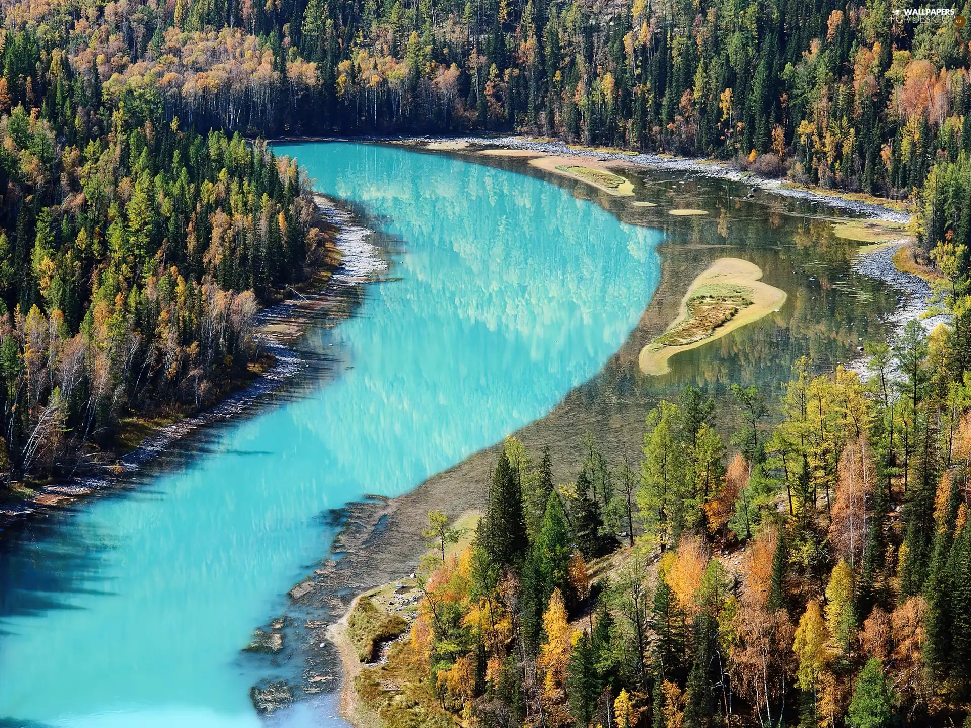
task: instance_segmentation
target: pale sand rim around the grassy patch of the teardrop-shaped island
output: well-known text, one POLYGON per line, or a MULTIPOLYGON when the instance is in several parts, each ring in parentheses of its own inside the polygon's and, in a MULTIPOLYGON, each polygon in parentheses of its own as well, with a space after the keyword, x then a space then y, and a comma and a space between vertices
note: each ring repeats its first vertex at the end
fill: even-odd
POLYGON ((705 271, 702 271, 691 285, 688 287, 685 297, 681 301, 681 311, 678 318, 668 326, 670 330, 673 326, 680 323, 687 317, 687 301, 691 295, 702 285, 709 283, 734 284, 748 288, 749 298, 752 305, 742 309, 730 320, 712 331, 711 335, 706 336, 690 344, 680 347, 665 347, 661 344, 649 344, 641 349, 638 356, 638 364, 641 371, 647 375, 661 375, 670 371, 668 359, 680 351, 689 348, 704 346, 709 342, 720 339, 722 336, 731 333, 735 329, 741 328, 746 324, 757 321, 766 314, 778 311, 786 303, 787 293, 781 288, 759 281, 762 277, 762 269, 748 260, 741 258, 719 258, 711 264, 705 271))

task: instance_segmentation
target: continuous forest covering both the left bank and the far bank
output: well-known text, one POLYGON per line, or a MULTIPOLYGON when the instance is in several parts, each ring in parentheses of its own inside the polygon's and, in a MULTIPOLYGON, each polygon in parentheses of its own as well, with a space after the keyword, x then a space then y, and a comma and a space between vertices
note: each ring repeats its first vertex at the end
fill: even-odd
POLYGON ((309 182, 259 138, 714 156, 905 199, 926 257, 971 235, 969 32, 884 0, 7 3, 0 471, 73 469, 125 414, 245 374, 252 316, 323 245, 309 182))

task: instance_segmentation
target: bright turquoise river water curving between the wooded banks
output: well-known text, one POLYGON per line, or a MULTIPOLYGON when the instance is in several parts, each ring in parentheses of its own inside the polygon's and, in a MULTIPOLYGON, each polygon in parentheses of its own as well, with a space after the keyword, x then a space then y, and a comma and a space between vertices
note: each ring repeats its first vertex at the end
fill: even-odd
POLYGON ((547 414, 657 286, 661 233, 563 187, 382 146, 277 150, 396 241, 389 278, 308 336, 336 362, 328 381, 4 546, 0 725, 258 725, 266 665, 240 648, 326 552, 318 514, 407 491, 547 414))

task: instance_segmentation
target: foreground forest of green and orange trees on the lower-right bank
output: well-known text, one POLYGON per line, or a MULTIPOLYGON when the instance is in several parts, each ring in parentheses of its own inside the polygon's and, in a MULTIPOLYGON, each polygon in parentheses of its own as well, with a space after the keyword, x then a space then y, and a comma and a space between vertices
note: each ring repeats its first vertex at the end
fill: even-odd
POLYGON ((967 287, 862 376, 732 386, 727 443, 694 387, 639 457, 588 433, 570 482, 508 438, 470 546, 429 513, 417 618, 361 700, 392 728, 971 725, 967 287))

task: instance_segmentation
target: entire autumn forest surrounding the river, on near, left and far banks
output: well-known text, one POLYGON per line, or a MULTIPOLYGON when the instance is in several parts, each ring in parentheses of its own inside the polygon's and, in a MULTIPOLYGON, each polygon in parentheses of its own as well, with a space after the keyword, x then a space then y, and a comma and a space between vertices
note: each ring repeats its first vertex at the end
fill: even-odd
POLYGON ((4 3, 5 483, 252 364, 324 246, 267 138, 526 133, 884 197, 949 323, 868 344, 864 375, 800 362, 781 402, 736 385, 730 442, 693 388, 567 483, 508 440, 473 544, 446 554, 436 516, 418 619, 357 688, 389 726, 971 726, 971 29, 899 7, 4 3))

